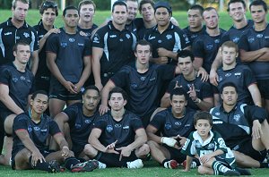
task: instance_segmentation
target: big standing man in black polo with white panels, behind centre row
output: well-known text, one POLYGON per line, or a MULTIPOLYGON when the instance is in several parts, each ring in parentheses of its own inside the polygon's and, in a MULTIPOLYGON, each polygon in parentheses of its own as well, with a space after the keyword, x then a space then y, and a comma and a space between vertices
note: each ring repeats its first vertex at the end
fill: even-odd
POLYGON ((112 6, 112 21, 97 30, 92 39, 92 72, 95 85, 102 89, 122 66, 134 59, 134 33, 126 30, 127 6, 117 1, 112 6))

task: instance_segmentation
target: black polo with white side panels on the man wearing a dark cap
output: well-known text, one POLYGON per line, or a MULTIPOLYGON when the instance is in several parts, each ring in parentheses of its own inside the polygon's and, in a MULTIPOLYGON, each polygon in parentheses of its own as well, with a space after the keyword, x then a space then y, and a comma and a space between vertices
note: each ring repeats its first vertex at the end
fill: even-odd
MULTIPOLYGON (((158 58, 158 48, 165 48, 174 53, 178 53, 190 45, 190 41, 187 38, 187 34, 180 30, 177 26, 169 22, 169 27, 162 33, 158 30, 158 25, 156 25, 152 30, 149 30, 144 37, 145 40, 152 44, 152 57, 158 58)), ((169 58, 169 63, 172 59, 169 58)))

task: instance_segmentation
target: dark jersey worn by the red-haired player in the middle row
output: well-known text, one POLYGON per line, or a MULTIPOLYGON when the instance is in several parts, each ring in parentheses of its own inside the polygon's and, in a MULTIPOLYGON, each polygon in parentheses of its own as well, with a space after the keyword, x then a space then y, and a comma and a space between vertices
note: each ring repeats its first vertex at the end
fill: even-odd
POLYGON ((253 103, 248 87, 256 83, 256 79, 247 65, 236 65, 235 68, 223 71, 222 68, 217 70, 219 75, 218 92, 224 83, 233 82, 238 89, 238 101, 242 103, 253 103))

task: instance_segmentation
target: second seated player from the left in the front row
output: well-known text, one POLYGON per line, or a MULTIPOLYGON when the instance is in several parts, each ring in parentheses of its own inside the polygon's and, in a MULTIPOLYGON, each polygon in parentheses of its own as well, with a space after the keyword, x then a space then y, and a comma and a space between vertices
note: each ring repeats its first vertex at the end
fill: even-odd
MULTIPOLYGON (((87 156, 83 155, 82 151, 88 142, 94 122, 98 120, 97 106, 99 101, 99 89, 95 86, 88 86, 83 91, 82 103, 69 105, 64 111, 56 114, 55 121, 60 130, 65 133, 65 139, 76 157, 89 160, 87 156)), ((56 149, 56 147, 51 148, 56 149)))

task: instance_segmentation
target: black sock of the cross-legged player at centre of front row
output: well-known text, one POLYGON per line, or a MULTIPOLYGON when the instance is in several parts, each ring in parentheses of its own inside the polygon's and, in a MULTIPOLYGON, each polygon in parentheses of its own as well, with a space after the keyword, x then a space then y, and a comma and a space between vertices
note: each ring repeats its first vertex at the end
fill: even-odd
POLYGON ((93 158, 103 164, 107 164, 108 167, 127 167, 126 160, 122 158, 119 161, 119 155, 117 154, 99 152, 93 158))

